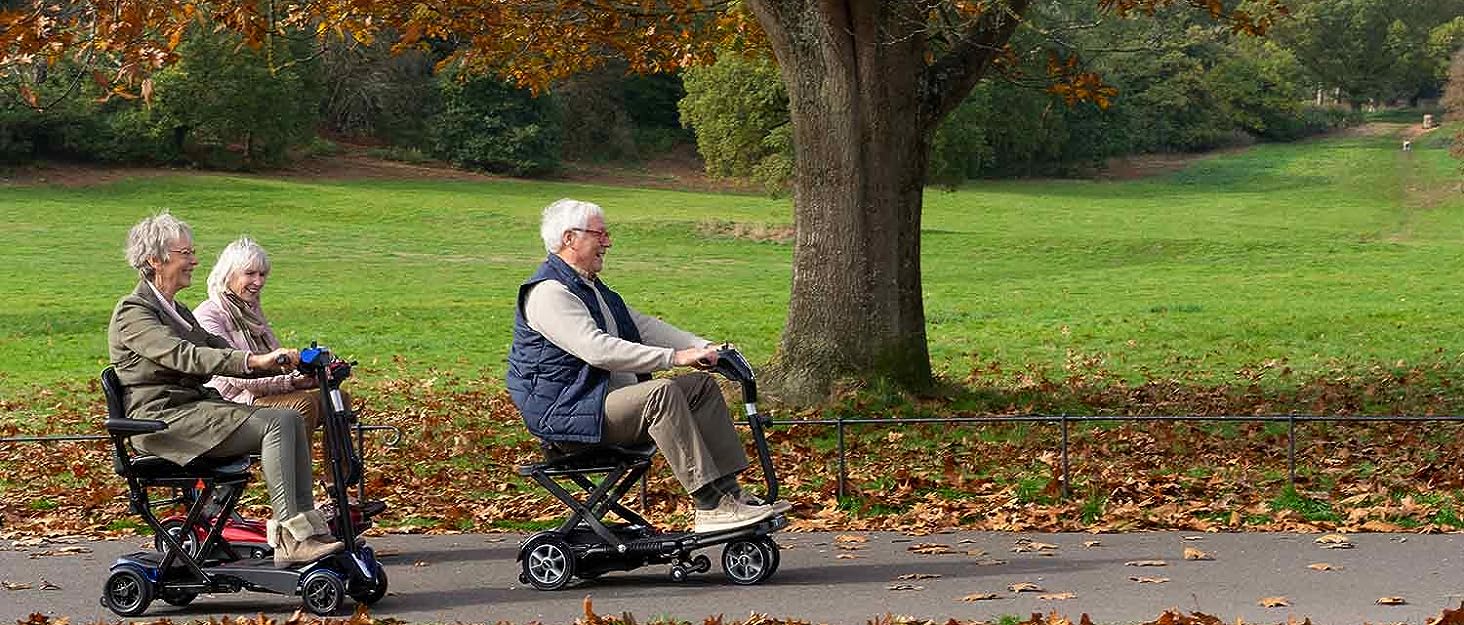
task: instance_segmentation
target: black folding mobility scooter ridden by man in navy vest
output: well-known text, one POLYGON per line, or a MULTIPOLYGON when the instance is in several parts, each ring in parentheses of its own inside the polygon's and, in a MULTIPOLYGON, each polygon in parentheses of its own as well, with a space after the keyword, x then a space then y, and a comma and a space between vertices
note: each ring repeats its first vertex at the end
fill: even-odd
MULTIPOLYGON (((752 429, 757 457, 767 482, 767 502, 777 499, 777 476, 763 429, 770 419, 757 413, 757 382, 747 359, 732 348, 717 351, 712 370, 742 386, 747 423, 752 429)), ((769 536, 788 525, 782 514, 754 525, 714 533, 657 531, 644 517, 621 504, 651 465, 654 445, 596 446, 562 454, 545 445, 546 460, 518 467, 571 511, 553 530, 530 536, 518 547, 518 581, 539 590, 556 590, 578 577, 597 578, 609 571, 631 571, 650 564, 671 564, 671 578, 684 581, 692 572, 707 572, 712 561, 692 552, 722 544, 722 569, 736 584, 758 584, 777 571, 777 543, 769 536), (603 476, 599 482, 590 476, 603 476), (583 489, 583 498, 559 480, 583 489), (619 523, 606 523, 615 512, 619 523)))

